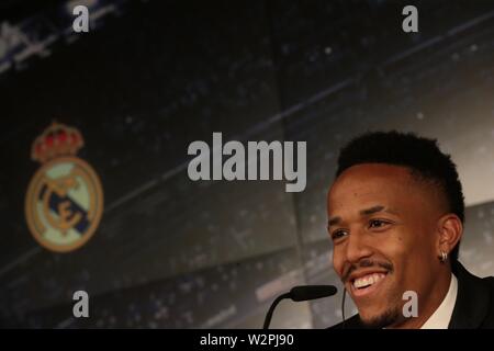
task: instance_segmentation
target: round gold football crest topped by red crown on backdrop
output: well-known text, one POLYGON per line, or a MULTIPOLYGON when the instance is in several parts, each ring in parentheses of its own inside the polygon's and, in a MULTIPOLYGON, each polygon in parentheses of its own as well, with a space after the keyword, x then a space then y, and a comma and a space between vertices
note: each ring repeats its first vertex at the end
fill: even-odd
POLYGON ((101 182, 92 167, 76 157, 83 144, 79 131, 53 123, 31 149, 31 158, 42 167, 25 197, 27 226, 34 238, 53 251, 80 248, 101 219, 101 182))

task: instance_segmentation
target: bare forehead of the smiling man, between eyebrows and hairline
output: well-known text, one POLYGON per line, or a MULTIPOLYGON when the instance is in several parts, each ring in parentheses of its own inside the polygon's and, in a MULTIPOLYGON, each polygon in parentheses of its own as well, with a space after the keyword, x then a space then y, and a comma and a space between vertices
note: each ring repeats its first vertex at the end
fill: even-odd
POLYGON ((363 163, 345 170, 328 192, 328 213, 360 211, 366 206, 409 210, 427 202, 425 185, 409 169, 383 163, 363 163))

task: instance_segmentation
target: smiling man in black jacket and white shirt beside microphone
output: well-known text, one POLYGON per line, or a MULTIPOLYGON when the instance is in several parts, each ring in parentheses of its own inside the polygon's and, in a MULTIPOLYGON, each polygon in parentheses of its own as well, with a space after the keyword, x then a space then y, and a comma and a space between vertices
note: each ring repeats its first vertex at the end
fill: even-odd
POLYGON ((359 312, 337 328, 494 328, 494 279, 458 262, 463 194, 435 140, 378 132, 350 141, 327 213, 333 265, 359 312), (403 313, 406 292, 416 316, 403 313))

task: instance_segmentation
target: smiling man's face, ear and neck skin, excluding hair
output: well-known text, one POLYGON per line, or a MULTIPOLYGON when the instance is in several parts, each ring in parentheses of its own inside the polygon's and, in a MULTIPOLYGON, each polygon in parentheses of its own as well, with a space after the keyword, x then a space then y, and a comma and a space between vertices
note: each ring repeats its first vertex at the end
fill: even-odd
POLYGON ((445 298, 448 254, 461 238, 460 218, 445 195, 406 167, 362 163, 346 169, 327 195, 333 265, 370 327, 420 328, 445 298), (405 317, 403 294, 418 297, 405 317))

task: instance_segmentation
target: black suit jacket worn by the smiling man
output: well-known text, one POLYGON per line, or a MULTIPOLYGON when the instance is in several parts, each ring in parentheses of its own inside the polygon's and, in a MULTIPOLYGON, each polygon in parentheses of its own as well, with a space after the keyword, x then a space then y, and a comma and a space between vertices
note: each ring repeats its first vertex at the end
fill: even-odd
MULTIPOLYGON (((458 280, 458 294, 449 329, 494 329, 494 276, 479 278, 460 262, 452 265, 458 280)), ((362 329, 359 315, 330 328, 362 329)))

